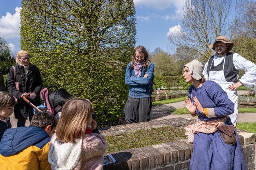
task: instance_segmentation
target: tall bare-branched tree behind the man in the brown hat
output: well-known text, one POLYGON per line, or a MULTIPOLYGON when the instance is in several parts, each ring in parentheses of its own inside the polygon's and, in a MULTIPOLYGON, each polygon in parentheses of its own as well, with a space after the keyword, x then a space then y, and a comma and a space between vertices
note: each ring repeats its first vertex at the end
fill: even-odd
POLYGON ((232 39, 242 13, 244 0, 186 0, 180 25, 169 35, 175 47, 187 46, 206 60, 212 55, 208 48, 216 37, 232 39))

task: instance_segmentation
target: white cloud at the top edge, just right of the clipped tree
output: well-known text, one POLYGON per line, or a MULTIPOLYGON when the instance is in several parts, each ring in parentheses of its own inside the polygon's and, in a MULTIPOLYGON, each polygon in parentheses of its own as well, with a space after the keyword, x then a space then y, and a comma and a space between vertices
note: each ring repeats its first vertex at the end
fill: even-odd
POLYGON ((182 11, 183 4, 185 1, 186 0, 133 0, 137 7, 145 6, 155 8, 158 10, 166 9, 173 5, 176 8, 176 13, 182 11))

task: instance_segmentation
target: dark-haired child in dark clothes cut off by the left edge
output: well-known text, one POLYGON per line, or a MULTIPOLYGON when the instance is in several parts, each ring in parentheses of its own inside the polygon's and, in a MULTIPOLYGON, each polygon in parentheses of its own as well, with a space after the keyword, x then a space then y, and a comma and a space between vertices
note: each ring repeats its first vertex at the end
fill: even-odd
POLYGON ((5 91, 0 91, 0 142, 4 131, 12 128, 9 116, 13 113, 14 97, 5 91))

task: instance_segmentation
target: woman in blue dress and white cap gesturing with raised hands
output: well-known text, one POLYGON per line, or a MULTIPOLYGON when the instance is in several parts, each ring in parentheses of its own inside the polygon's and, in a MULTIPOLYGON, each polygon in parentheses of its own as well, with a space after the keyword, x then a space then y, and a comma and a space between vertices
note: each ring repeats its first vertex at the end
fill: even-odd
POLYGON ((218 130, 222 125, 233 126, 228 115, 234 112, 234 103, 217 83, 204 79, 203 69, 204 66, 197 60, 184 66, 185 81, 193 84, 184 106, 192 116, 198 116, 197 123, 185 128, 189 142, 194 145, 190 169, 245 170, 236 131, 236 142, 232 145, 223 141, 218 130))

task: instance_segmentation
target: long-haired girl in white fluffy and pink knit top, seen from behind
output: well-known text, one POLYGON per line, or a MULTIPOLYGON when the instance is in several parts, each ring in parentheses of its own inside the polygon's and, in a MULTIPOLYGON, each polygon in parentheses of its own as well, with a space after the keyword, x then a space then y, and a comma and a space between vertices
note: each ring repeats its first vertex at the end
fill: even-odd
POLYGON ((50 141, 48 161, 52 169, 102 169, 107 144, 103 135, 91 133, 97 127, 93 112, 87 99, 72 98, 64 104, 50 141))

